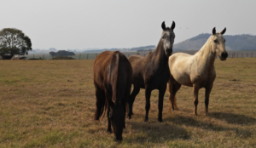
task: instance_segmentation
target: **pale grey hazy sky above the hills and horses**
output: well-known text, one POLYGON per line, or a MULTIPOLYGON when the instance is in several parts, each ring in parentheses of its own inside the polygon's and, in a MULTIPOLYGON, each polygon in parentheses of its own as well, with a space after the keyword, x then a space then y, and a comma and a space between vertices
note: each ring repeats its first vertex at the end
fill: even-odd
POLYGON ((0 29, 22 30, 32 48, 156 45, 161 23, 176 22, 175 43, 227 27, 256 35, 255 0, 0 0, 0 29))

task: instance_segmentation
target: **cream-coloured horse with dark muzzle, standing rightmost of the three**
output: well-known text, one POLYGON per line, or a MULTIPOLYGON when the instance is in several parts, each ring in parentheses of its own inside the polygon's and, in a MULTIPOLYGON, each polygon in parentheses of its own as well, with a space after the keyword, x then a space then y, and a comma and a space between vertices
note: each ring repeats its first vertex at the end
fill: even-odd
POLYGON ((176 53, 169 57, 168 63, 171 77, 167 85, 172 110, 174 110, 176 105, 175 94, 181 85, 185 85, 193 87, 195 115, 197 115, 198 91, 200 88, 206 88, 205 105, 206 115, 208 114, 209 96, 216 77, 214 60, 216 56, 220 60, 226 60, 228 57, 228 53, 225 50, 225 39, 222 36, 225 31, 226 28, 220 33, 216 33, 214 27, 212 29, 212 36, 208 38, 207 43, 194 55, 176 53))

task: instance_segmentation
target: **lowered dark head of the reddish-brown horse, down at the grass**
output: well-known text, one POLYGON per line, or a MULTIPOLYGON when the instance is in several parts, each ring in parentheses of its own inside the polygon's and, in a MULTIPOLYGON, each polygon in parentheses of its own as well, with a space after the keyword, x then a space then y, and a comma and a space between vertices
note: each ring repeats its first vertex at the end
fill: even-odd
POLYGON ((125 126, 125 110, 124 105, 111 105, 109 118, 113 128, 113 134, 115 135, 115 140, 121 141, 123 139, 122 133, 125 126))

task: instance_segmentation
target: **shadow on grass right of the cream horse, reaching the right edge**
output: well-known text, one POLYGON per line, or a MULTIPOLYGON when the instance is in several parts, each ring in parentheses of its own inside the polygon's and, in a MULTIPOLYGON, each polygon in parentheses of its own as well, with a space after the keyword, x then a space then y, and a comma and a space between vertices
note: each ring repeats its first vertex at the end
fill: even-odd
POLYGON ((231 124, 253 125, 256 123, 256 119, 253 117, 246 117, 244 115, 238 115, 233 113, 212 112, 212 113, 209 113, 209 117, 214 117, 219 120, 224 120, 231 124))

